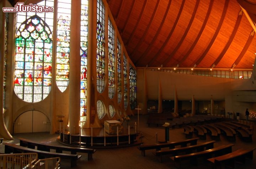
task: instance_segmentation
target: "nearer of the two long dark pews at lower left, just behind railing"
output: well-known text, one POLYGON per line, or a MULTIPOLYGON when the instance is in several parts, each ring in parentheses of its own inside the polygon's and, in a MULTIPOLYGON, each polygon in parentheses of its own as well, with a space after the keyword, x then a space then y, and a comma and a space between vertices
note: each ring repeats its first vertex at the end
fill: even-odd
POLYGON ((70 167, 75 167, 76 161, 81 158, 80 155, 34 150, 32 148, 22 147, 8 142, 4 142, 3 144, 5 145, 5 153, 37 153, 38 159, 60 157, 60 159, 69 159, 70 167))

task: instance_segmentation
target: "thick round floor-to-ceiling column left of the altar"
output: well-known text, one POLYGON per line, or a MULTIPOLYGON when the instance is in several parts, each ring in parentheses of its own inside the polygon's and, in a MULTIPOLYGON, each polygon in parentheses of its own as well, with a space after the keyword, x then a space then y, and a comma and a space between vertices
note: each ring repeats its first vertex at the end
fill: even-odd
POLYGON ((69 66, 69 132, 79 133, 80 120, 80 16, 81 2, 71 1, 69 66))

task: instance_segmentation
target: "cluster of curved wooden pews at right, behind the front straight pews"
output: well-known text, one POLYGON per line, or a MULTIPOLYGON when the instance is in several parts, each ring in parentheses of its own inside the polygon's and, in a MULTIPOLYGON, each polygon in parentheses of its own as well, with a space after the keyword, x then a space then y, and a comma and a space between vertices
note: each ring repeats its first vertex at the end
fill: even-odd
POLYGON ((200 139, 206 139, 206 134, 209 133, 212 140, 220 140, 220 134, 224 134, 229 141, 235 141, 236 135, 239 135, 242 141, 251 142, 253 134, 250 126, 236 121, 186 125, 183 126, 183 129, 186 138, 192 138, 193 132, 195 132, 200 139))

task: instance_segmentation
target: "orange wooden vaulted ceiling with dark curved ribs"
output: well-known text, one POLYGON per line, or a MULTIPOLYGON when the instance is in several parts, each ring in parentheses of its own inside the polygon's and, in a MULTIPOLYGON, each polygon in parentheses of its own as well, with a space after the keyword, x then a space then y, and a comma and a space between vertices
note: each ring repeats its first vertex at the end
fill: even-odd
POLYGON ((256 0, 107 2, 137 67, 253 67, 256 35, 241 6, 255 25, 256 0))

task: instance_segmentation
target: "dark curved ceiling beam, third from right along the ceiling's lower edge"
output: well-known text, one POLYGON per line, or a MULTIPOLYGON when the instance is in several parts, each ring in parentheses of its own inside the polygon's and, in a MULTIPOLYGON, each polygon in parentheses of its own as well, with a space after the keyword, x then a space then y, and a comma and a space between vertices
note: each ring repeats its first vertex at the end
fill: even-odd
POLYGON ((222 17, 220 18, 220 21, 219 21, 219 24, 218 24, 218 27, 213 35, 213 38, 212 40, 209 42, 206 50, 203 52, 202 56, 199 57, 199 59, 196 61, 196 63, 192 64, 191 66, 192 67, 196 67, 197 65, 200 64, 200 62, 204 59, 204 57, 206 56, 206 54, 209 52, 210 48, 212 47, 214 41, 216 40, 218 34, 219 34, 219 31, 220 31, 220 28, 222 27, 222 24, 223 24, 223 21, 224 21, 224 18, 226 16, 226 12, 228 10, 228 4, 229 4, 229 1, 225 1, 225 5, 224 5, 224 9, 222 11, 222 17))

